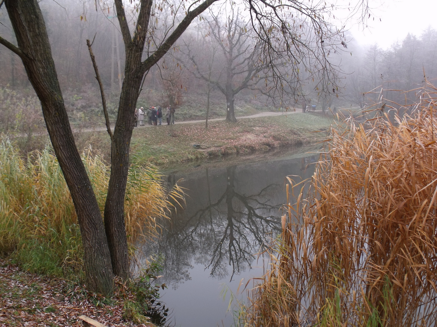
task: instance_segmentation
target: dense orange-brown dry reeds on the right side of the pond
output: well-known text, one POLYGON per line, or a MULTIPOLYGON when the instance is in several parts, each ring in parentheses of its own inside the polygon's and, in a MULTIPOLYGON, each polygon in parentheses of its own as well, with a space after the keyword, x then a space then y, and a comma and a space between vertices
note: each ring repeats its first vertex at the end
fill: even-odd
POLYGON ((383 106, 333 129, 308 197, 288 178, 298 201, 243 307, 246 325, 436 325, 435 91, 411 116, 389 119, 383 106))

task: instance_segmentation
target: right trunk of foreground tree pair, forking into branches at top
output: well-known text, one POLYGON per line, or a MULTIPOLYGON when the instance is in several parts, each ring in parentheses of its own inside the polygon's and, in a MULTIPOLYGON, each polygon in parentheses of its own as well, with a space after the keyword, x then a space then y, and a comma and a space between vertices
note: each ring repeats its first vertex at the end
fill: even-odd
POLYGON ((111 145, 111 177, 104 209, 105 231, 116 276, 127 279, 129 274, 128 244, 125 230, 125 193, 129 172, 129 150, 134 126, 134 112, 144 74, 155 65, 191 21, 217 0, 206 0, 187 15, 158 49, 142 61, 144 44, 152 9, 152 0, 141 0, 141 8, 133 36, 129 31, 122 0, 115 0, 118 22, 125 44, 125 78, 121 86, 118 115, 111 145))

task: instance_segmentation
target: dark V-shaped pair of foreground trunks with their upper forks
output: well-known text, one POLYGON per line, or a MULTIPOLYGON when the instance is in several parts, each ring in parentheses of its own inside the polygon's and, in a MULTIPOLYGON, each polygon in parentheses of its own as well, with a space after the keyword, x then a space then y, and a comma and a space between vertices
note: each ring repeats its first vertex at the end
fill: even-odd
POLYGON ((129 30, 124 6, 115 0, 118 22, 125 44, 125 79, 121 88, 118 116, 111 137, 111 176, 104 209, 104 222, 73 139, 49 37, 37 0, 5 0, 14 27, 18 47, 0 38, 0 43, 20 56, 38 98, 49 131, 53 149, 66 179, 80 224, 84 248, 87 286, 90 290, 110 293, 113 275, 128 278, 128 246, 125 232, 124 201, 129 168, 129 146, 134 123, 134 110, 143 75, 163 57, 188 27, 191 20, 215 0, 205 0, 186 16, 166 37, 151 56, 142 60, 148 40, 152 14, 151 0, 141 0, 133 35, 129 30), (105 235, 106 234, 106 235, 105 235))

